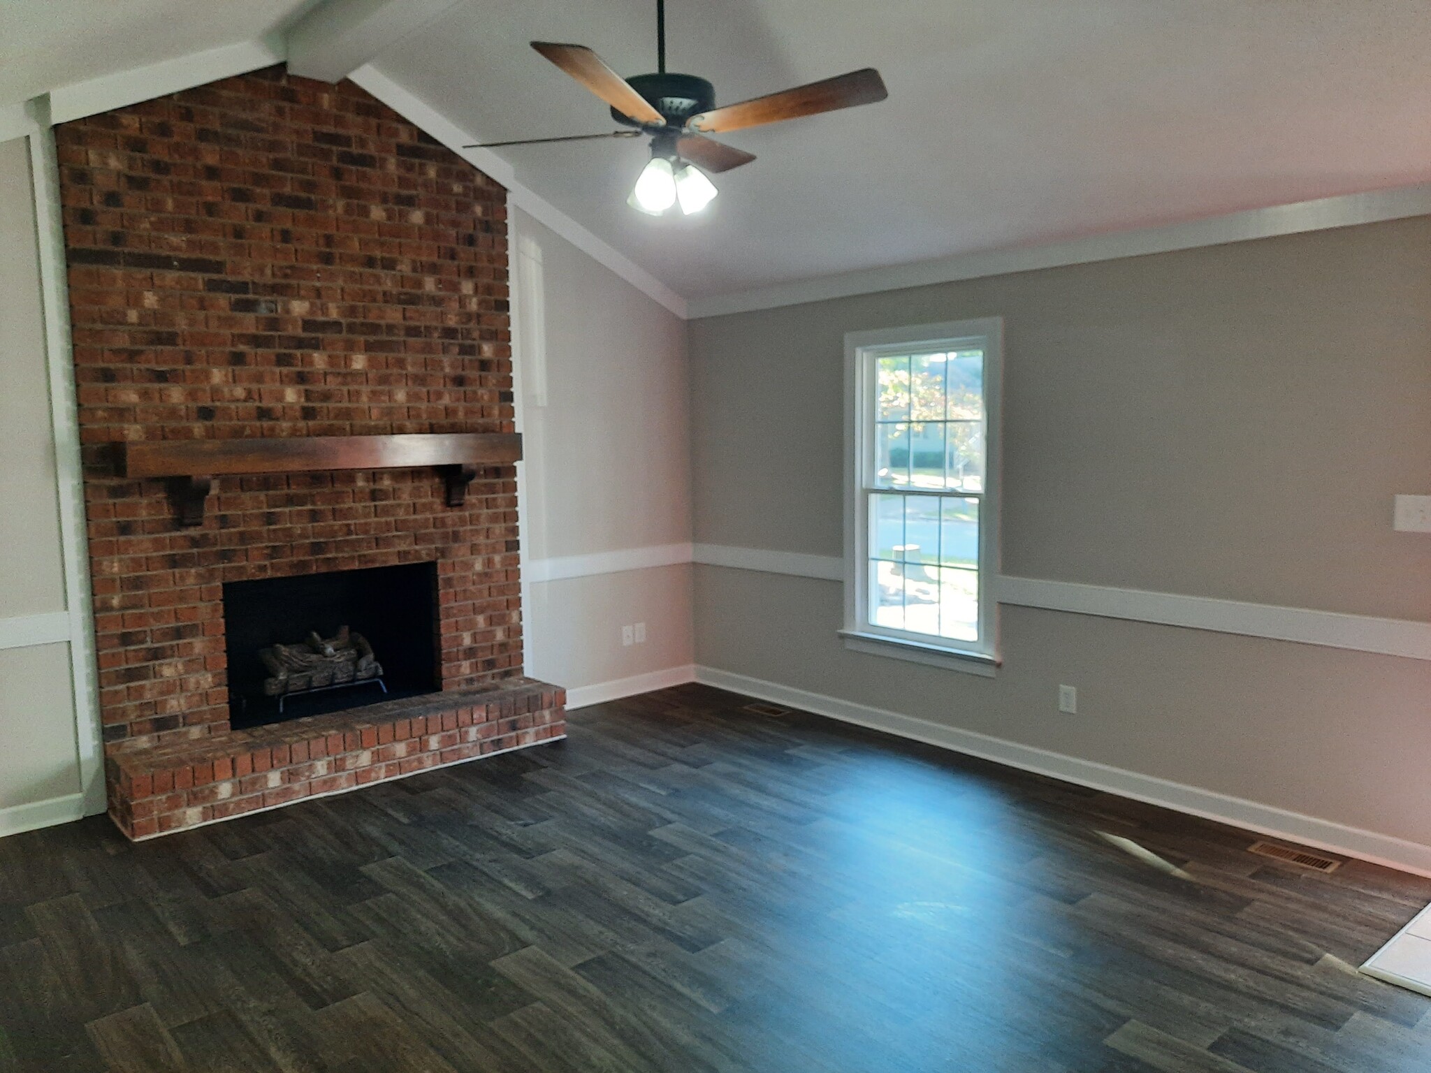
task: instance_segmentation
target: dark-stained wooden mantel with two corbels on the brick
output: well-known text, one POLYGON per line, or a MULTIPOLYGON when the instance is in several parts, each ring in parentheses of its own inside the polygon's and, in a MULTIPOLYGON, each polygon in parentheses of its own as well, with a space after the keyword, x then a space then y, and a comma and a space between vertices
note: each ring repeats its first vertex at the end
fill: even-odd
POLYGON ((509 465, 522 458, 517 432, 166 439, 117 446, 123 476, 176 478, 180 525, 203 524, 215 476, 436 466, 446 479, 448 506, 461 506, 478 466, 509 465))

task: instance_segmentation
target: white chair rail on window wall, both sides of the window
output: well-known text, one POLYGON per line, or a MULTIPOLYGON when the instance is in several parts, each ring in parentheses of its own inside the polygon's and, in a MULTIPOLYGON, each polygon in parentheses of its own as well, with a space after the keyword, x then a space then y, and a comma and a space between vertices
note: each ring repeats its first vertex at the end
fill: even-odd
MULTIPOLYGON (((710 567, 790 574, 820 581, 841 581, 844 561, 833 555, 801 555, 720 544, 695 544, 695 562, 710 567)), ((1132 622, 1209 629, 1218 634, 1265 637, 1271 641, 1347 648, 1355 652, 1431 660, 1431 622, 1402 618, 1348 615, 1239 599, 1186 597, 1070 581, 1042 581, 1000 575, 995 581, 1000 604, 1066 611, 1075 615, 1123 618, 1132 622)))

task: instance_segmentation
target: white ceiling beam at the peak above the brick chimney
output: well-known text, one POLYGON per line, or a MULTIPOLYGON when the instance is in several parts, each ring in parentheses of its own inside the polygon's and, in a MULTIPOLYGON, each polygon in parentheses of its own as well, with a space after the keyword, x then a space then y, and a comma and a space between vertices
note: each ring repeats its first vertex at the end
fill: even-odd
POLYGON ((462 0, 323 0, 288 31, 288 69, 341 82, 462 0))

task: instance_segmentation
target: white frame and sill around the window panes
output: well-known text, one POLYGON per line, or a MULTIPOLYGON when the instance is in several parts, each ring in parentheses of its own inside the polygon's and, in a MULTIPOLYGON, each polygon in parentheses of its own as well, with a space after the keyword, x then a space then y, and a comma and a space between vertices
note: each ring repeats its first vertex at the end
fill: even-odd
POLYGON ((844 638, 846 648, 993 675, 999 665, 999 494, 1002 458, 1003 319, 850 332, 844 336, 844 638), (874 474, 876 359, 910 351, 972 349, 985 355, 985 488, 979 505, 979 641, 930 637, 873 625, 869 618, 870 495, 874 474))

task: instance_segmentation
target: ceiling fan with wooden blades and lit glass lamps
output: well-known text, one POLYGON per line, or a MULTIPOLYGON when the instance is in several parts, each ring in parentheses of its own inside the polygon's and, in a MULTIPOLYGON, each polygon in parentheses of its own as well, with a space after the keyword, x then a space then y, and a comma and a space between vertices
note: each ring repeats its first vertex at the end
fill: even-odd
POLYGON ((665 0, 655 3, 657 67, 654 74, 622 79, 601 57, 582 44, 532 41, 531 46, 611 106, 611 117, 631 130, 565 137, 527 137, 514 142, 484 142, 465 149, 497 149, 547 142, 592 142, 605 137, 651 139, 651 159, 635 180, 627 203, 660 216, 680 203, 690 215, 716 196, 705 172, 728 172, 748 165, 750 153, 716 142, 707 134, 778 123, 821 112, 873 104, 889 92, 873 67, 837 74, 794 89, 716 107, 716 87, 694 74, 665 70, 665 0), (704 169, 704 170, 703 170, 704 169))

